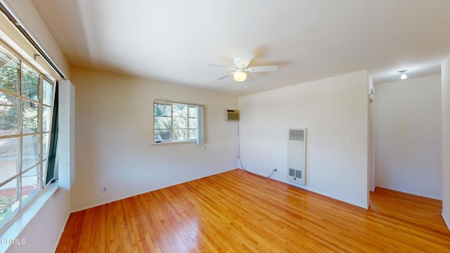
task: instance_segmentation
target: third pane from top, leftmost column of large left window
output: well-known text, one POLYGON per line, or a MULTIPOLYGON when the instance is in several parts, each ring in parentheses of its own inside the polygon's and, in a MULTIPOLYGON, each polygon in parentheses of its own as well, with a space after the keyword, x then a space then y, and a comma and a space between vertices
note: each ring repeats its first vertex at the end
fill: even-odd
POLYGON ((18 137, 0 140, 0 183, 19 173, 17 167, 18 151, 18 137))

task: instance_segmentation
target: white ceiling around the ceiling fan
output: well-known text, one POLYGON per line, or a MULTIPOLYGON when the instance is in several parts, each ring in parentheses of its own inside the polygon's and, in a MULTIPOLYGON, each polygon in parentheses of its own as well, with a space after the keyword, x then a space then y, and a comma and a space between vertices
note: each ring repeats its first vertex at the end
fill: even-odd
MULTIPOLYGON (((71 65, 238 95, 359 70, 439 74, 449 0, 32 0, 71 65), (217 80, 248 51, 255 82, 217 80), (236 89, 233 91, 233 86, 236 89)), ((124 84, 125 85, 125 84, 124 84)))

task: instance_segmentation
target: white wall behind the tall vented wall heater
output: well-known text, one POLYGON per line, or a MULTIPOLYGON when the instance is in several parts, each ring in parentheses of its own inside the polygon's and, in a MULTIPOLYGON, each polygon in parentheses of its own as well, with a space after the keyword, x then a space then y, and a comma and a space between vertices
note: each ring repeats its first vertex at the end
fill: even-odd
POLYGON ((307 128, 306 186, 368 207, 368 72, 366 70, 239 98, 245 169, 290 183, 288 129, 307 128), (352 142, 346 143, 345 137, 352 142))

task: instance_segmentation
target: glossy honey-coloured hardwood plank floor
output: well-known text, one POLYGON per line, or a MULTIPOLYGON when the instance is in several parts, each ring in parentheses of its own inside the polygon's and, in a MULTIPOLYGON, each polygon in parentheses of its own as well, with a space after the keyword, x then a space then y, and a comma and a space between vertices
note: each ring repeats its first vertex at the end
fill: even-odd
POLYGON ((70 214, 56 252, 450 252, 442 203, 370 209, 235 169, 70 214))

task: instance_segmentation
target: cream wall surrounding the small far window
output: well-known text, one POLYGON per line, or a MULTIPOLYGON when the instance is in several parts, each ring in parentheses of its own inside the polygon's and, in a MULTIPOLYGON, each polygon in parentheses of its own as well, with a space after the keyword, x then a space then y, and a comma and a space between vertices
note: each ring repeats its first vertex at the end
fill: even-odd
POLYGON ((72 211, 237 168, 238 97, 188 86, 72 68, 77 180, 72 211), (153 100, 205 105, 205 147, 152 145, 153 100), (101 193, 102 186, 108 193, 101 193))

